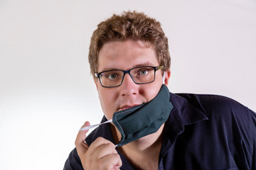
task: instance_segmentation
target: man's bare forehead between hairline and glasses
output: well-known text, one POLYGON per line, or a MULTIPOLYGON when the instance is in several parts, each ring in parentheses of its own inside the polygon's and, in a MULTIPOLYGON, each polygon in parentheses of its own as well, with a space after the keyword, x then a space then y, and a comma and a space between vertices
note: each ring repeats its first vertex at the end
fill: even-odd
POLYGON ((155 50, 148 43, 140 40, 113 41, 105 43, 100 50, 97 72, 158 64, 155 50))

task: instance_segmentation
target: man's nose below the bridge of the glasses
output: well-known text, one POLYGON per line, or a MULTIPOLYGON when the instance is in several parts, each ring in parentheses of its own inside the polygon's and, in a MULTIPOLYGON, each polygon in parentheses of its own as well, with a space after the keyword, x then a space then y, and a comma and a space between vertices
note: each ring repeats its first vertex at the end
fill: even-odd
POLYGON ((122 96, 130 96, 130 95, 136 95, 139 91, 139 84, 135 84, 132 80, 132 77, 130 77, 129 74, 124 75, 124 80, 119 86, 120 88, 120 94, 122 96))

